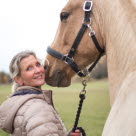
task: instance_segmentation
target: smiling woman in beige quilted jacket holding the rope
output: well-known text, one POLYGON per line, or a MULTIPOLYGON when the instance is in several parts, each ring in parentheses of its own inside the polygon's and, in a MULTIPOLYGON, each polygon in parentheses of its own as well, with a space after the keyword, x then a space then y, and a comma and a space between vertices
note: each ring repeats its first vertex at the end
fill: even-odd
MULTIPOLYGON (((67 135, 53 107, 52 92, 41 90, 44 73, 34 52, 20 52, 12 59, 13 94, 0 106, 0 128, 11 136, 67 135)), ((70 135, 80 136, 80 132, 70 135)))

